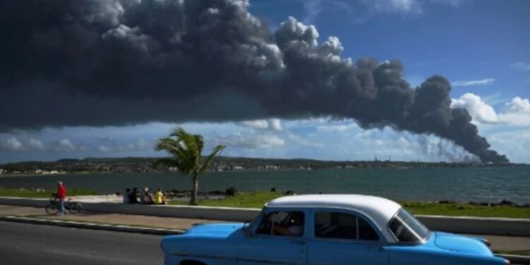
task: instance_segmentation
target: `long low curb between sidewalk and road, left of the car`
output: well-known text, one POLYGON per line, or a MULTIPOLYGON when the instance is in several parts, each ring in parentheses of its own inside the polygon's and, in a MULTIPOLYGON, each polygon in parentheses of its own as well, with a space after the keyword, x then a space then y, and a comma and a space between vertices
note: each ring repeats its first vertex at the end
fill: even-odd
POLYGON ((92 229, 92 230, 107 230, 115 232, 135 232, 141 234, 149 235, 179 235, 184 232, 184 230, 177 229, 164 229, 164 228, 142 228, 138 226, 131 225, 110 225, 104 223, 86 223, 86 222, 76 222, 69 220, 49 220, 42 218, 29 218, 29 217, 20 217, 20 216, 0 216, 0 220, 16 223, 31 223, 35 225, 54 225, 61 226, 66 228, 83 228, 83 229, 92 229))

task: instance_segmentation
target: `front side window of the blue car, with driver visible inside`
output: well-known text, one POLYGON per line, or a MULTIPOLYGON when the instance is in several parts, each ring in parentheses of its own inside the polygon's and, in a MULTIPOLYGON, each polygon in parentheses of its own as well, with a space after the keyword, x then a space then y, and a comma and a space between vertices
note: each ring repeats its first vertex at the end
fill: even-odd
POLYGON ((305 215, 302 211, 273 211, 259 224, 257 234, 301 237, 304 234, 305 215))

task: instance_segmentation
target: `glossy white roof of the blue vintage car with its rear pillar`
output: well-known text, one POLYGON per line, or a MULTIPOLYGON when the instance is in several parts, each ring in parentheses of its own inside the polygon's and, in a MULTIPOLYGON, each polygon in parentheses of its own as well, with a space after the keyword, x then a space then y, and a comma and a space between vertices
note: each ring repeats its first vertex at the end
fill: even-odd
POLYGON ((377 196, 359 194, 311 194, 284 196, 273 199, 266 207, 285 208, 343 208, 363 213, 379 227, 384 237, 392 241, 387 224, 399 211, 401 205, 395 201, 377 196))

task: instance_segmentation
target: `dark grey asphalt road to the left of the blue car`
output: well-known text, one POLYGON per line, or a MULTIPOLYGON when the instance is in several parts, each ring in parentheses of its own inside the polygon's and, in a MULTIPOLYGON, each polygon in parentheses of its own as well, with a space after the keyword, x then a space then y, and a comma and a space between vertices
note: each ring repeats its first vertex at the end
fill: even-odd
POLYGON ((0 264, 163 264, 160 239, 0 221, 0 264))

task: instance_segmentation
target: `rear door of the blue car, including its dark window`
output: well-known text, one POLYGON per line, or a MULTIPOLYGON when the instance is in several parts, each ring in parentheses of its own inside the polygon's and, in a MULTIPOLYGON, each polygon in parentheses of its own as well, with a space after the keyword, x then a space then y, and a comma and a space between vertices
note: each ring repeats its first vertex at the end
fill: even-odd
POLYGON ((312 237, 307 242, 307 264, 387 265, 384 237, 360 213, 316 210, 312 237))

